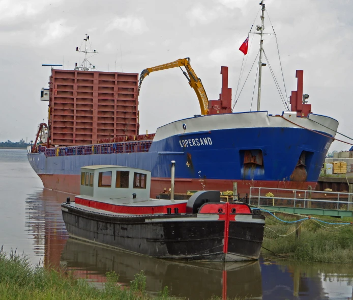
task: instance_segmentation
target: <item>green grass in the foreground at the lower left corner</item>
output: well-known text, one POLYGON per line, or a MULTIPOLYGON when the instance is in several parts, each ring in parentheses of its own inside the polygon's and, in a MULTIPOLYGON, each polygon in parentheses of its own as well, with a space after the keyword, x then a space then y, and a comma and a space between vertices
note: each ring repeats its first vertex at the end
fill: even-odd
POLYGON ((114 271, 107 272, 103 289, 96 289, 84 279, 77 279, 72 273, 61 273, 43 266, 33 266, 28 259, 15 253, 0 251, 0 299, 16 300, 79 300, 79 299, 120 299, 120 300, 169 300, 165 287, 157 296, 145 292, 146 278, 141 271, 131 282, 130 288, 117 284, 119 277, 114 271))

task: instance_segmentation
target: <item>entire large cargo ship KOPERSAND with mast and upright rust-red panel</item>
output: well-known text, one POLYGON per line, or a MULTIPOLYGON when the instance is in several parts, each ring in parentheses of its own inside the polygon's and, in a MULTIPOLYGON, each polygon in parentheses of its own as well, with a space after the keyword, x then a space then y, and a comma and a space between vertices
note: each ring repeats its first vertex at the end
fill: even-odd
MULTIPOLYGON (((260 5, 259 75, 266 65, 262 62, 265 8, 260 5)), ((260 110, 259 76, 257 111, 239 113, 231 108, 228 67, 221 67, 219 99, 209 101, 189 62, 145 69, 140 80, 137 73, 96 71, 85 60, 74 70, 52 69, 49 89, 42 91, 49 101, 48 124, 40 125, 27 154, 44 187, 79 194, 81 167, 115 165, 151 171, 150 197, 156 197, 170 188, 174 160, 175 193, 232 190, 234 182, 239 193, 248 193, 250 186, 314 188, 338 122, 312 113, 308 95, 303 94, 303 71, 296 72, 297 90, 291 92, 288 111, 271 115, 260 110), (201 114, 175 120, 153 134, 139 134, 138 93, 143 78, 152 71, 181 66, 201 114), (37 145, 41 137, 45 139, 37 145)))

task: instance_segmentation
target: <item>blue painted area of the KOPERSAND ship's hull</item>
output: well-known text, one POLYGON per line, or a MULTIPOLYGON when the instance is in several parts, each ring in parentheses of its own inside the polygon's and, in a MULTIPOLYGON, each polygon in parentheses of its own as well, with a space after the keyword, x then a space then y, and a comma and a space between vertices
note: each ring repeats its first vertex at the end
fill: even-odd
POLYGON ((289 181, 301 153, 306 151, 305 181, 316 182, 331 141, 301 128, 236 128, 173 135, 153 142, 145 153, 58 157, 36 153, 28 154, 28 160, 37 174, 78 175, 82 166, 119 165, 169 178, 170 161, 175 160, 176 178, 289 181), (244 169, 244 150, 252 149, 262 151, 261 171, 244 169))

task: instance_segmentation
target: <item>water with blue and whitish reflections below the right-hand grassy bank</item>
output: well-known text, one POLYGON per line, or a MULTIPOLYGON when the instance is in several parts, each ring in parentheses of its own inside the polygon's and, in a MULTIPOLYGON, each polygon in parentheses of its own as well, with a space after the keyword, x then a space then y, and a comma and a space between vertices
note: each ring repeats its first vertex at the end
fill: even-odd
POLYGON ((263 299, 352 299, 351 265, 262 261, 263 299))

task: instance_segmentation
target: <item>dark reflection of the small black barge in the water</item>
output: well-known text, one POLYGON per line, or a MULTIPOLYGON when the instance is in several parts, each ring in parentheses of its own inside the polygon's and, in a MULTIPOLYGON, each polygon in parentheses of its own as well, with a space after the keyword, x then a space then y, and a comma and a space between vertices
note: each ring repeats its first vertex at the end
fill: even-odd
POLYGON ((123 285, 130 284, 143 270, 146 290, 158 292, 168 286, 170 294, 195 300, 209 299, 212 295, 262 298, 259 261, 203 263, 155 259, 69 238, 61 265, 93 282, 104 282, 106 272, 113 270, 123 285))

